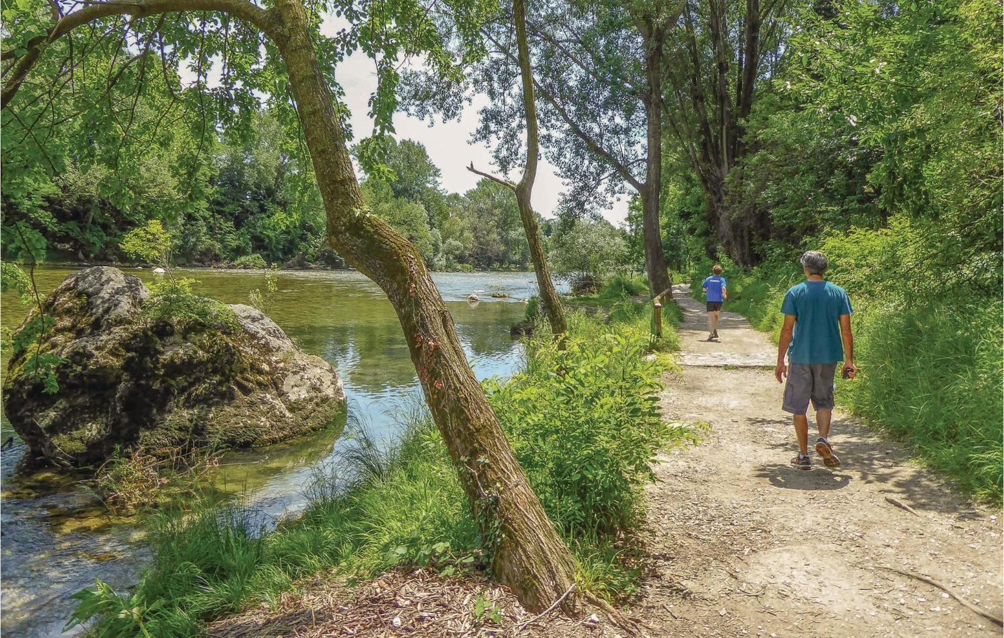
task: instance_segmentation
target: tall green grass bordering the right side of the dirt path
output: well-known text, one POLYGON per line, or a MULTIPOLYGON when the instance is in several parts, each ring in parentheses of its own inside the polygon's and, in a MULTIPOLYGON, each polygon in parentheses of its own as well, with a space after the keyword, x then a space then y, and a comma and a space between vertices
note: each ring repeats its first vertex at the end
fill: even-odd
MULTIPOLYGON (((710 266, 710 265, 705 265, 710 266)), ((700 297, 705 269, 693 273, 700 297)), ((752 272, 730 268, 725 309, 771 334, 781 327, 781 301, 801 281, 789 267, 752 272)), ((1000 507, 1002 498, 1002 383, 999 298, 957 294, 875 294, 867 270, 854 279, 834 272, 854 304, 857 379, 837 379, 837 400, 877 429, 911 446, 915 456, 944 472, 966 494, 1000 507)))

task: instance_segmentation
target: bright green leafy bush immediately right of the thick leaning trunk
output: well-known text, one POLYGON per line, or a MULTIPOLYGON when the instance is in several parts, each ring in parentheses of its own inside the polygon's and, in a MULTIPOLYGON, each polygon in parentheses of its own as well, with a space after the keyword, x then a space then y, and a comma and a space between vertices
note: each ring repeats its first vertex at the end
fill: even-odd
MULTIPOLYGON (((671 429, 659 413, 663 367, 650 337, 604 326, 527 346, 526 371, 486 383, 516 457, 551 520, 572 536, 615 536, 642 516, 642 489, 671 429)), ((548 335, 549 336, 549 335, 548 335)))

